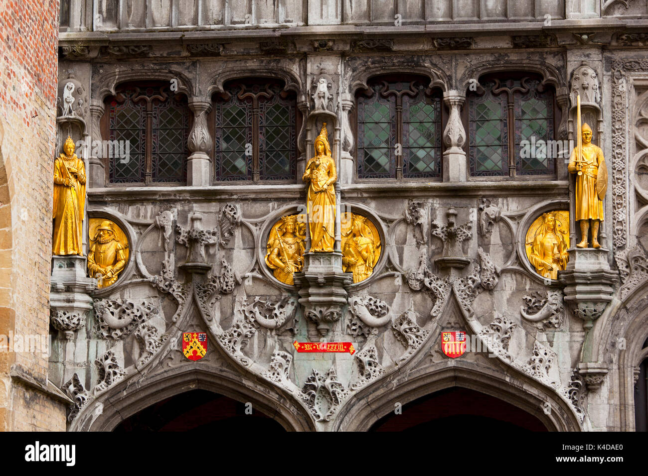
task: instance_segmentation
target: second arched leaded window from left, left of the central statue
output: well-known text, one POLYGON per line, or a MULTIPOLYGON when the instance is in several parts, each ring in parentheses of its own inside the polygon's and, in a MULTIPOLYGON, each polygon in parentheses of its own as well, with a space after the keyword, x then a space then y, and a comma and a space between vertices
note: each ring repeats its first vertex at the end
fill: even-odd
POLYGON ((214 95, 214 179, 294 180, 297 99, 277 80, 239 80, 214 95))

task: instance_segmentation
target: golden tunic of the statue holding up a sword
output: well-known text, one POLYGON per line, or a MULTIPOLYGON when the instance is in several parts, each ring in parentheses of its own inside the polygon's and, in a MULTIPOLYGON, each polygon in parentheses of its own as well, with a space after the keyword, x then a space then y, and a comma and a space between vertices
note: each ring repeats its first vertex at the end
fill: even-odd
MULTIPOLYGON (((577 148, 573 148, 568 170, 576 170, 577 148)), ((576 176, 576 216, 575 220, 601 220, 603 221, 603 200, 599 199, 596 192, 596 177, 603 158, 603 151, 594 144, 583 145, 581 171, 583 175, 576 176)))

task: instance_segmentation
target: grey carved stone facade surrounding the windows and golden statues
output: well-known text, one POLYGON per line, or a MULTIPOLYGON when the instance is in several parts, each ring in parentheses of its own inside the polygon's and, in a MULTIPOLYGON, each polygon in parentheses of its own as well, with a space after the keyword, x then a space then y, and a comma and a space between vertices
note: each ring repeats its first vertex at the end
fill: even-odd
MULTIPOLYGON (((56 334, 50 360, 51 380, 75 402, 68 429, 113 429, 189 383, 295 430, 366 430, 395 403, 452 385, 513 403, 548 429, 634 429, 634 373, 648 337, 645 0, 63 3, 59 95, 73 82, 77 102, 58 111, 71 124, 60 126, 59 144, 67 130, 101 139, 104 99, 124 82, 175 82, 194 113, 186 185, 112 185, 106 162, 84 156, 87 216, 117 223, 130 258, 108 288, 75 278, 93 309, 56 334), (467 93, 506 71, 553 88, 557 139, 575 137, 575 93, 588 99, 610 170, 603 248, 570 249, 559 280, 535 273, 525 237, 542 213, 573 210, 564 161, 551 177, 470 176, 467 93), (402 73, 443 93, 442 174, 359 179, 356 93, 402 73), (297 95, 294 180, 214 182, 212 95, 259 76, 297 95), (321 78, 332 97, 317 104, 321 78), (362 282, 351 284, 333 253, 307 256, 289 286, 264 254, 277 220, 303 212, 317 114, 329 121, 339 211, 373 221, 383 249, 362 282), (466 332, 472 350, 444 356, 446 330, 466 332), (182 332, 206 332, 207 356, 185 359, 182 332), (295 352, 294 341, 320 339, 351 341, 356 353, 295 352)), ((572 223, 572 245, 577 233, 572 223)))

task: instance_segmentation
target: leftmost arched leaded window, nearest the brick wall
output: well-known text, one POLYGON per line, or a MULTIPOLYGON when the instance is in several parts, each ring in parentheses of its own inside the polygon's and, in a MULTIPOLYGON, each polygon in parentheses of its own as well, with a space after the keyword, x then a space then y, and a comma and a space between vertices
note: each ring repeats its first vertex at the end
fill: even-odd
POLYGON ((190 128, 187 99, 167 84, 122 85, 106 99, 102 157, 109 182, 185 182, 190 128))

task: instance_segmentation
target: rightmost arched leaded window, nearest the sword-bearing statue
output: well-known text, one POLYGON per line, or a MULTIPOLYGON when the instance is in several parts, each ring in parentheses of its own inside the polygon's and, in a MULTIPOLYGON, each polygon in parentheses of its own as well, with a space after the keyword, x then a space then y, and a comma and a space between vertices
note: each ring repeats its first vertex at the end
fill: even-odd
POLYGON ((553 176, 555 93, 529 74, 487 76, 468 95, 470 175, 553 176))

